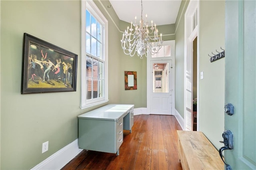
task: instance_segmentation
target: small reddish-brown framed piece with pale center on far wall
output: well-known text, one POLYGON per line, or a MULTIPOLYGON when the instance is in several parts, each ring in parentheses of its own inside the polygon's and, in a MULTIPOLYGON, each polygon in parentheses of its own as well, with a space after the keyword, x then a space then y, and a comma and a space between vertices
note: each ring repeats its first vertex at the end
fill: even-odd
POLYGON ((124 89, 137 90, 137 71, 124 71, 124 89))

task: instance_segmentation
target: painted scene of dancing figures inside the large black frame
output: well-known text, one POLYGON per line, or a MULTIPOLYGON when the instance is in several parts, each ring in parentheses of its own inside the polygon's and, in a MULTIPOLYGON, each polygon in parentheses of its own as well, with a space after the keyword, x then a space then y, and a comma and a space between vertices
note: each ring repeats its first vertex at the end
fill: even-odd
POLYGON ((28 87, 72 87, 73 58, 33 45, 28 56, 28 87), (42 56, 41 60, 37 56, 42 56))

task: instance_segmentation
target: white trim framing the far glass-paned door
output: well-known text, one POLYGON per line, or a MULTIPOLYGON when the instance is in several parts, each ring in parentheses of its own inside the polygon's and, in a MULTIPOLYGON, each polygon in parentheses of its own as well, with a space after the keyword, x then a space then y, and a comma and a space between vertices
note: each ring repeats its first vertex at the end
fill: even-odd
MULTIPOLYGON (((149 80, 150 80, 150 61, 154 60, 172 60, 172 115, 175 113, 175 40, 164 41, 162 45, 171 45, 171 56, 170 57, 156 57, 152 58, 151 55, 147 57, 147 114, 150 114, 150 96, 149 94, 149 80)), ((169 89, 170 90, 170 89, 169 89)))

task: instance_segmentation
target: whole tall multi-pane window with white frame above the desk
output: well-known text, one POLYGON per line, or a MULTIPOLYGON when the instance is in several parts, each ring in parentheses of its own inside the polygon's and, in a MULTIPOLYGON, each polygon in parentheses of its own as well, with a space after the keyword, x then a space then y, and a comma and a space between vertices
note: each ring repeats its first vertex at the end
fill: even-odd
POLYGON ((92 1, 82 1, 81 109, 108 101, 107 20, 92 1))

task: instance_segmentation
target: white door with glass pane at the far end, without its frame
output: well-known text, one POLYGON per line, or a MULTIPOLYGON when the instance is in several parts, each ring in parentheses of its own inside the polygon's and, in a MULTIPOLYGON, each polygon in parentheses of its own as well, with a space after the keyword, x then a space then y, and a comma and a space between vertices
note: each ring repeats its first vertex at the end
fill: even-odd
POLYGON ((172 60, 150 61, 150 114, 172 115, 172 60))

